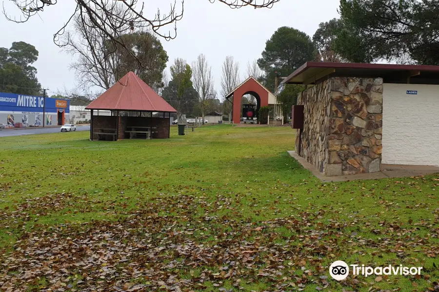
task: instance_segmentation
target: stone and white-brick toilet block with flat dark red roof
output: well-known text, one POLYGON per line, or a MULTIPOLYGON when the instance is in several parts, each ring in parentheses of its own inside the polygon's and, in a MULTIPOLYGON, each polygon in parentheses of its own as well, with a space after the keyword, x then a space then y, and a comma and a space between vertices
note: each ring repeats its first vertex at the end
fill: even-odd
POLYGON ((439 66, 308 62, 296 152, 326 176, 439 166, 439 66))

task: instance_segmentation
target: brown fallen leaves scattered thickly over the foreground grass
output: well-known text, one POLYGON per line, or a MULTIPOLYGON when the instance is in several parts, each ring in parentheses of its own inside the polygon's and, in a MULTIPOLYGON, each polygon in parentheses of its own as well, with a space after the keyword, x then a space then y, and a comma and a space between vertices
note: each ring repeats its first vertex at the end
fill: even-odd
MULTIPOLYGON (((355 217, 323 223, 319 219, 325 216, 324 210, 254 222, 231 216, 237 211, 229 198, 219 196, 216 203, 203 198, 161 196, 150 202, 138 201, 135 209, 116 221, 49 227, 37 224, 24 229, 12 250, 0 255, 0 288, 6 292, 189 292, 238 291, 246 285, 265 283, 269 291, 303 291, 308 285, 315 285, 317 291, 331 291, 338 283, 327 277, 328 259, 345 252, 359 256, 395 253, 397 258, 390 263, 398 260, 407 265, 418 262, 414 254, 439 256, 439 209, 434 210, 433 224, 421 221, 402 227, 399 222, 381 221, 376 229, 355 217), (215 215, 219 202, 229 209, 229 215, 215 215), (201 216, 197 215, 200 205, 205 210, 201 216), (177 215, 160 215, 170 206, 177 207, 177 215), (361 237, 346 230, 364 226, 370 226, 369 231, 379 237, 361 237), (419 228, 430 236, 420 236, 419 228)), ((86 201, 93 200, 68 194, 30 199, 18 203, 16 210, 3 210, 1 222, 11 224, 11 220, 29 219, 29 214, 43 216, 86 201)), ((434 283, 429 274, 423 277, 434 283)), ((413 277, 413 287, 416 280, 413 277)), ((397 285, 397 279, 377 277, 375 281, 397 285)), ((354 291, 370 283, 350 275, 341 285, 354 291)), ((431 285, 433 290, 429 291, 436 291, 431 285)))

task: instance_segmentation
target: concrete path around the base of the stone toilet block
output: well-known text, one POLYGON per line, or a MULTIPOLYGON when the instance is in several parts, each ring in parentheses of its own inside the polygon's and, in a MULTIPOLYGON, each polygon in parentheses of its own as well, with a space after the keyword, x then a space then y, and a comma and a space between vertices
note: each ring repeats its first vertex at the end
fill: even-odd
POLYGON ((302 166, 313 173, 322 182, 346 182, 354 180, 374 180, 387 178, 402 178, 439 173, 439 167, 429 165, 381 164, 381 171, 374 173, 360 173, 355 175, 340 175, 327 177, 322 175, 312 164, 300 157, 296 151, 288 151, 302 166))

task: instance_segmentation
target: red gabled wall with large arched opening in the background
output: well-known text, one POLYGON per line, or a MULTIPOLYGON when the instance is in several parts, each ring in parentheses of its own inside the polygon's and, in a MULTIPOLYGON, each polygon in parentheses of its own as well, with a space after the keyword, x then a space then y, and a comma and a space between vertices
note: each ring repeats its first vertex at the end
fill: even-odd
MULTIPOLYGON (((233 96, 233 123, 239 124, 241 119, 241 99, 245 94, 252 94, 258 100, 259 107, 268 106, 269 91, 263 87, 255 78, 249 77, 242 82, 235 90, 227 94, 226 98, 230 100, 233 96)), ((259 110, 258 107, 258 110, 259 110)))

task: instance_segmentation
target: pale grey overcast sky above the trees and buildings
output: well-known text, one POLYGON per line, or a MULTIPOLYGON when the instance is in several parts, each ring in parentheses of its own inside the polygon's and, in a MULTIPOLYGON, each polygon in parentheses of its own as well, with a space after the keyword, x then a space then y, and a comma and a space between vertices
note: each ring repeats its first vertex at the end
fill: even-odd
MULTIPOLYGON (((3 1, 7 12, 17 15, 8 2, 3 1)), ((154 14, 157 5, 164 12, 171 0, 145 0, 154 14), (159 4, 160 3, 160 4, 159 4)), ((39 51, 34 66, 43 88, 49 95, 63 93, 76 86, 75 72, 69 70, 72 57, 53 43, 55 34, 74 10, 73 0, 58 1, 39 16, 26 23, 14 23, 0 16, 0 47, 9 48, 14 41, 25 41, 39 51)), ((215 87, 220 92, 221 65, 227 55, 234 56, 244 74, 248 61, 260 57, 265 42, 281 26, 290 26, 310 37, 320 22, 338 18, 339 0, 280 0, 272 9, 245 7, 230 9, 220 2, 185 0, 183 18, 177 23, 177 38, 162 44, 169 56, 167 71, 176 57, 191 63, 199 54, 206 55, 212 66, 215 87)), ((172 29, 172 27, 169 27, 172 29)))

